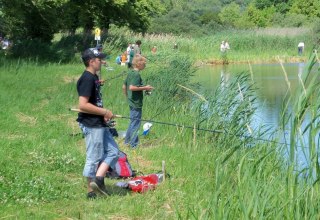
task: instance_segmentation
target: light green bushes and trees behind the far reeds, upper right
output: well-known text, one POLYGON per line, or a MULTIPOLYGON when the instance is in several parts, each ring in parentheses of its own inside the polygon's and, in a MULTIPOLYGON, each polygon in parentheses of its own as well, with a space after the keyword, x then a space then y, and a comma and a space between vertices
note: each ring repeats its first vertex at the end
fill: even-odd
MULTIPOLYGON (((216 31, 225 28, 248 29, 256 27, 301 27, 310 26, 311 21, 309 14, 316 14, 314 8, 317 8, 318 3, 309 1, 303 3, 299 1, 280 1, 280 0, 247 0, 247 1, 229 1, 220 0, 218 2, 208 2, 206 0, 191 0, 187 2, 179 2, 179 4, 171 4, 170 13, 176 13, 185 18, 179 13, 196 13, 198 16, 193 17, 189 22, 192 31, 185 30, 182 27, 177 29, 172 28, 172 23, 168 14, 160 15, 153 19, 149 33, 173 33, 173 34, 188 34, 195 32, 195 28, 200 30, 197 33, 212 34, 216 31), (311 11, 309 10, 309 6, 311 11), (312 6, 312 7, 311 7, 312 6), (298 8, 299 10, 295 9, 298 8), (300 10, 302 9, 303 10, 300 10), (295 14, 296 17, 291 16, 295 14), (200 21, 200 23, 199 23, 200 21), (161 31, 157 31, 157 30, 161 31)), ((170 17, 174 17, 170 15, 170 17)), ((313 16, 313 18, 315 18, 313 16)), ((178 22, 177 22, 178 23, 178 22)), ((185 23, 185 22, 183 22, 185 23)))

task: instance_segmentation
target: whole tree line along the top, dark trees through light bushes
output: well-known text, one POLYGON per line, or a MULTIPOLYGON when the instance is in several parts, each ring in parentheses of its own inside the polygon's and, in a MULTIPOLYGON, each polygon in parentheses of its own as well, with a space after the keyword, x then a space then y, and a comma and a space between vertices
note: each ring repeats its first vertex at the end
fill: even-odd
MULTIPOLYGON (((319 0, 0 0, 0 33, 50 42, 110 25, 141 33, 201 35, 228 28, 300 27, 317 23, 319 0)), ((318 22, 319 23, 319 22, 318 22)))

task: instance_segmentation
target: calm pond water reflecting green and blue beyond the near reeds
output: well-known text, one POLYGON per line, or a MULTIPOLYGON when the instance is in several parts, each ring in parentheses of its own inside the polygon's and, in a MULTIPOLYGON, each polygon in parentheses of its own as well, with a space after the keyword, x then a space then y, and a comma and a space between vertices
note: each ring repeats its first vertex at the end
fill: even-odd
MULTIPOLYGON (((299 74, 303 73, 305 63, 284 64, 285 71, 290 81, 291 89, 294 91, 299 86, 299 74)), ((203 88, 207 91, 214 91, 217 87, 223 86, 222 81, 227 82, 237 73, 252 72, 253 80, 256 83, 258 110, 254 117, 253 127, 261 125, 276 129, 280 120, 281 104, 287 92, 288 86, 285 74, 280 64, 232 64, 203 66, 195 76, 203 88)), ((287 139, 287 138, 286 138, 287 139)), ((303 152, 298 152, 300 163, 306 163, 303 152)))

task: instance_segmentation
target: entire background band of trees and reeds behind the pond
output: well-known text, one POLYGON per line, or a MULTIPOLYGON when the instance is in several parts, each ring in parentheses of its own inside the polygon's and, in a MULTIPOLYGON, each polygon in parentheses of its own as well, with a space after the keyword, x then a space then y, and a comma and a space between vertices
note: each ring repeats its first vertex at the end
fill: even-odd
POLYGON ((275 62, 277 56, 288 62, 305 61, 319 43, 316 1, 0 3, 0 35, 12 41, 5 54, 14 59, 77 61, 81 51, 96 45, 95 28, 102 30, 101 42, 113 59, 137 39, 145 52, 153 46, 160 53, 171 52, 177 43, 179 51, 197 64, 275 62), (231 49, 222 56, 219 47, 225 40, 231 49), (302 57, 297 57, 299 42, 305 43, 302 57))

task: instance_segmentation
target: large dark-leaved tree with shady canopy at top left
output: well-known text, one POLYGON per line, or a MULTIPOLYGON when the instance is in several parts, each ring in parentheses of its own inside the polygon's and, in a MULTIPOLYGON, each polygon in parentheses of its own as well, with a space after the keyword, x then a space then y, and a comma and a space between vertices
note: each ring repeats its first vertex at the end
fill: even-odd
POLYGON ((144 32, 150 17, 162 13, 160 0, 0 0, 1 18, 11 37, 42 39, 50 42, 54 33, 74 33, 82 27, 86 33, 95 26, 128 26, 144 32))

